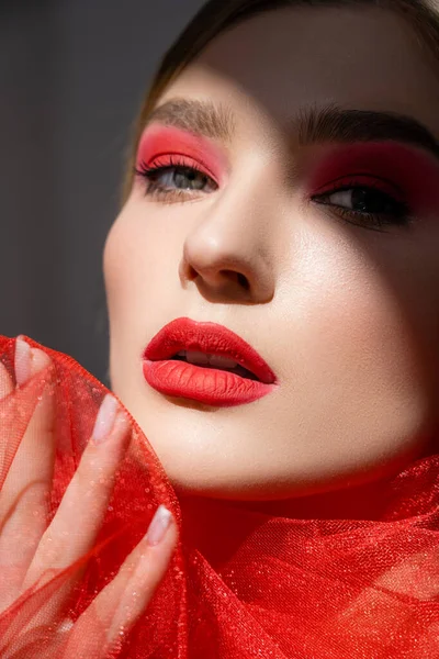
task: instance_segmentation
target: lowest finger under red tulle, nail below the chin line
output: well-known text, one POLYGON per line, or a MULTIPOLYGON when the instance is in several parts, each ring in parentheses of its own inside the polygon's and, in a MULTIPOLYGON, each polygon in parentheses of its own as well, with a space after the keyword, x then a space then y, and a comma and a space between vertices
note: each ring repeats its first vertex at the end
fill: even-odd
POLYGON ((63 659, 76 658, 79 648, 85 656, 103 658, 123 643, 165 577, 177 537, 171 513, 160 505, 146 536, 75 623, 63 659))

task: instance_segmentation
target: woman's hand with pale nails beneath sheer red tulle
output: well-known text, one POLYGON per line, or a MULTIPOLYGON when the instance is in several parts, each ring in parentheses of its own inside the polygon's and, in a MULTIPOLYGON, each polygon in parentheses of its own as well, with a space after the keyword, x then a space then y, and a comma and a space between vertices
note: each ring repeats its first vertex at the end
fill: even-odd
MULTIPOLYGON (((45 353, 18 338, 14 368, 20 388, 32 376, 49 369, 50 360, 45 353)), ((0 400, 13 389, 12 380, 0 362, 0 400)), ((44 585, 92 549, 109 505, 116 468, 130 443, 130 422, 114 396, 108 394, 79 467, 47 526, 55 456, 54 418, 54 396, 46 388, 0 492, 0 617, 1 612, 13 605, 26 589, 44 585)), ((5 443, 8 437, 2 437, 2 432, 4 429, 0 425, 0 442, 5 443)), ((177 535, 170 512, 159 506, 148 533, 126 558, 119 573, 75 623, 65 621, 53 632, 53 643, 50 638, 49 650, 45 650, 44 656, 57 659, 106 657, 120 640, 121 630, 130 630, 148 606, 166 573, 177 535), (61 654, 60 644, 64 644, 61 654)), ((74 571, 69 581, 38 610, 38 628, 50 628, 59 619, 59 612, 78 576, 78 571, 74 571)), ((10 632, 0 638, 2 659, 21 656, 23 635, 18 637, 16 634, 20 615, 16 614, 10 632)), ((25 607, 22 616, 25 636, 27 640, 32 639, 32 634, 37 635, 38 629, 35 623, 32 626, 25 618, 25 607)))

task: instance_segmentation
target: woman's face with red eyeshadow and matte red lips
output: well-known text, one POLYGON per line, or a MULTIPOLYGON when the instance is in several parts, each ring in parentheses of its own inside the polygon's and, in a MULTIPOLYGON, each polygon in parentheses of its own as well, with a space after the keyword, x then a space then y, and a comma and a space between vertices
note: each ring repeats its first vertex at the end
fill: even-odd
POLYGON ((303 495, 376 478, 431 438, 435 66, 393 13, 284 9, 219 35, 160 98, 104 273, 113 390, 178 489, 303 495), (274 382, 164 354, 145 378, 146 346, 176 319, 228 328, 274 382))

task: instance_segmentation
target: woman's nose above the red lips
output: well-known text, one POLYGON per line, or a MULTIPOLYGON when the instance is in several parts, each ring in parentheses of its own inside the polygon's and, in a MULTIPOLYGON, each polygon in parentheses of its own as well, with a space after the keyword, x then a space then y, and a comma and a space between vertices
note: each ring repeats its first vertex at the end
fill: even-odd
POLYGON ((269 302, 275 273, 267 205, 249 191, 207 205, 183 244, 182 286, 194 282, 212 302, 269 302))

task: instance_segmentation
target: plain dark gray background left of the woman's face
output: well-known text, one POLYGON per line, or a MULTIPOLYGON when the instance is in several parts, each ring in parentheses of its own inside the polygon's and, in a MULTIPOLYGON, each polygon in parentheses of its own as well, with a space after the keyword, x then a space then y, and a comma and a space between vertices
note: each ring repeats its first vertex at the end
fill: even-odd
POLYGON ((101 272, 130 127, 203 0, 0 0, 0 334, 100 380, 101 272))

